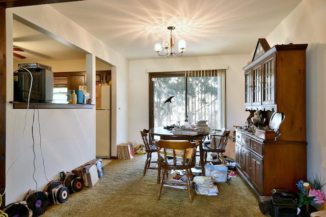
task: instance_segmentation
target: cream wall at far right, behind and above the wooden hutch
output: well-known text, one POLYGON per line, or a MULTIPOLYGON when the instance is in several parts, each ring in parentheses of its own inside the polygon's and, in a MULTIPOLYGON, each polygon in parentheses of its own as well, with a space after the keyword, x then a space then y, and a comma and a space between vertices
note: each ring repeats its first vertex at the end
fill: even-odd
MULTIPOLYGON (((326 178, 326 2, 304 0, 271 32, 273 44, 308 44, 306 51, 307 176, 326 178)), ((295 108, 293 108, 295 109, 295 108)), ((289 153, 291 154, 291 153, 289 153)), ((300 169, 300 168, 298 168, 300 169)))

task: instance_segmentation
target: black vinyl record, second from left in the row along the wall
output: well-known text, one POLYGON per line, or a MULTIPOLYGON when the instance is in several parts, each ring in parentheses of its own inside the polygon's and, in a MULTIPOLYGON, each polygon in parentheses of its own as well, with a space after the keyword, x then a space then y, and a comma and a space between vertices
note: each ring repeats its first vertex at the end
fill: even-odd
POLYGON ((33 211, 33 217, 42 215, 49 204, 49 199, 44 192, 30 190, 26 195, 25 201, 28 207, 33 211))

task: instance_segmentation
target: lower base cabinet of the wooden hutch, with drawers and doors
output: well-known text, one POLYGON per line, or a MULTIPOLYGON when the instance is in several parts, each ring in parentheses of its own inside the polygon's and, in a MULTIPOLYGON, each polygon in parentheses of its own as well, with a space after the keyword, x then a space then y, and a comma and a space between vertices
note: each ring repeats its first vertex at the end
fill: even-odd
POLYGON ((295 183, 306 180, 306 142, 262 140, 236 129, 238 173, 258 196, 275 188, 297 192, 295 183))

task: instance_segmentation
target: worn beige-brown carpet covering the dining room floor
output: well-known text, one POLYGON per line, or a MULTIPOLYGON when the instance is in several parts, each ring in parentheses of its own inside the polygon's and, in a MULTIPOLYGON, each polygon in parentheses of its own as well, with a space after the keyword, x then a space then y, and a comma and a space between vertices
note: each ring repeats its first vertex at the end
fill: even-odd
POLYGON ((93 188, 71 194, 67 202, 51 205, 46 216, 265 216, 253 191, 240 178, 218 183, 218 196, 197 195, 189 203, 187 191, 164 187, 157 201, 157 172, 143 177, 146 155, 113 160, 93 188))

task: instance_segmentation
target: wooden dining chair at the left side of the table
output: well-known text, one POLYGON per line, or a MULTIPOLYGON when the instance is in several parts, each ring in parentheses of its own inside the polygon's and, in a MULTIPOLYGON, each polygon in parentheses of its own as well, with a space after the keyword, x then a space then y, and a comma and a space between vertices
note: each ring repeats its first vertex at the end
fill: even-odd
MULTIPOLYGON (((146 175, 146 171, 151 170, 158 170, 157 160, 152 160, 152 153, 156 152, 155 142, 153 141, 152 137, 149 135, 149 130, 141 130, 141 136, 145 145, 145 151, 147 153, 147 158, 145 161, 145 167, 143 171, 143 176, 146 175)), ((160 170, 157 171, 157 183, 159 182, 160 177, 160 170)))

